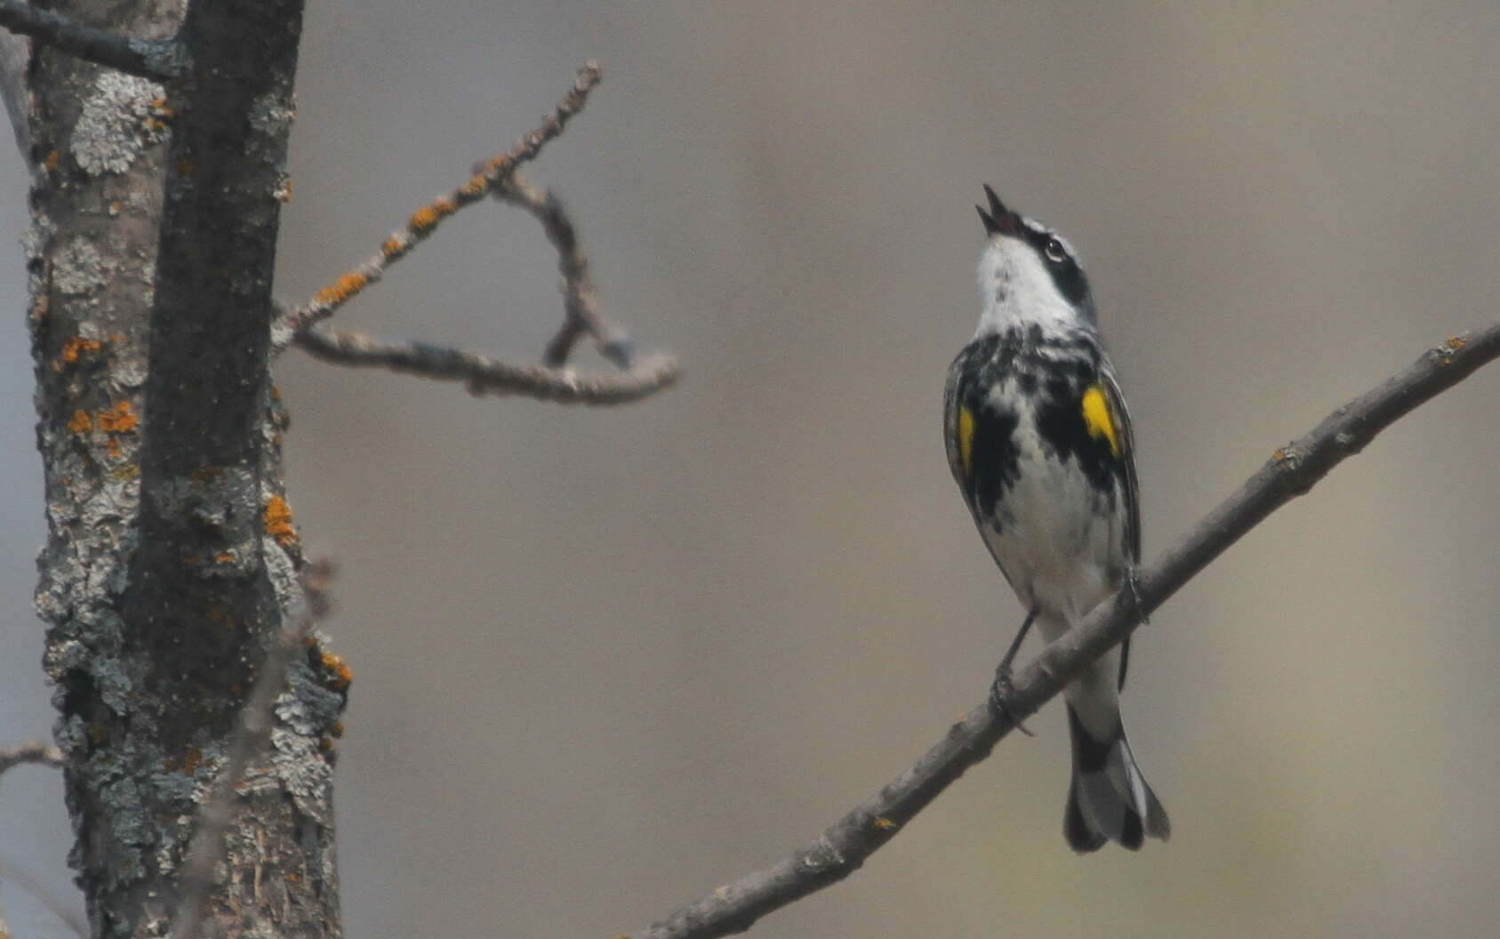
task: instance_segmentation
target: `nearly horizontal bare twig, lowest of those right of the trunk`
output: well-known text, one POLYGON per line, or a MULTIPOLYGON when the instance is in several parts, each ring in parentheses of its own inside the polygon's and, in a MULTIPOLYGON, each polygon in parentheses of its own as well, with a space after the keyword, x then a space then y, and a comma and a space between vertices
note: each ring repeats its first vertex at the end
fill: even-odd
POLYGON ((572 369, 514 364, 424 342, 384 342, 363 333, 318 327, 297 338, 316 358, 336 364, 384 368, 423 378, 462 381, 472 394, 519 394, 538 400, 620 405, 666 388, 681 370, 666 354, 612 375, 579 375, 572 369))

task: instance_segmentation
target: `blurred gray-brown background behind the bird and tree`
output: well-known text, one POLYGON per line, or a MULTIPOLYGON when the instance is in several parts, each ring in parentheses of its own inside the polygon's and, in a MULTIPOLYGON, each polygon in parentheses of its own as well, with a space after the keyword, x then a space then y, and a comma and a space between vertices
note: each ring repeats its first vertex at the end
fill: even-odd
MULTIPOLYGON (((986 692, 1020 610, 948 477, 988 182, 1083 252, 1154 555, 1270 452, 1497 315, 1500 8, 312 3, 279 292, 368 256, 531 128, 608 312, 686 381, 621 410, 279 364, 292 507, 342 566, 351 936, 608 936, 812 837, 986 692)), ((0 225, 26 171, 0 160, 0 225)), ((0 264, 0 741, 45 734, 20 250, 0 264)), ((339 321, 534 358, 536 225, 472 208, 339 321)), ((608 368, 588 351, 579 366, 608 368)), ((1066 732, 1008 740, 792 936, 1492 936, 1491 368, 1140 633, 1176 837, 1077 858, 1066 732)), ((76 902, 60 784, 0 855, 76 902)), ((8 888, 18 934, 62 934, 8 888)))

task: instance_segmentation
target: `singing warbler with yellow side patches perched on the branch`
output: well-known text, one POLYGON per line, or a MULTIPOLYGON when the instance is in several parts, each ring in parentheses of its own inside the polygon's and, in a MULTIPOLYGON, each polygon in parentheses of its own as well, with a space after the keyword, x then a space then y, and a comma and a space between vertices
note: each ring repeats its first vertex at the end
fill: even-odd
MULTIPOLYGON (((944 430, 980 534, 1026 608, 990 696, 1004 711, 1032 622, 1052 642, 1132 576, 1140 507, 1130 416, 1077 255, 984 192, 982 312, 948 369, 944 430)), ((1062 828, 1078 852, 1172 834, 1120 723, 1128 654, 1126 640, 1064 693, 1072 786, 1062 828)))

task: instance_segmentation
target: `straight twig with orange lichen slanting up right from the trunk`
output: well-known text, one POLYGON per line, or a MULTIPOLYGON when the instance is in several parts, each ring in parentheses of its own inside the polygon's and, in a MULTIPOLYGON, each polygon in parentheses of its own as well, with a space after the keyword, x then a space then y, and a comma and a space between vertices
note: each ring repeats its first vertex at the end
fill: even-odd
POLYGON ((370 260, 318 291, 312 300, 279 316, 272 324, 272 352, 280 352, 297 339, 298 333, 332 316, 366 286, 386 276, 386 268, 411 254, 417 244, 438 230, 444 219, 480 201, 486 194, 510 180, 522 164, 536 159, 542 153, 542 147, 562 134, 567 122, 584 110, 588 93, 594 90, 600 78, 603 78, 603 72, 598 63, 585 63, 573 80, 567 96, 548 114, 542 126, 522 135, 520 141, 510 150, 486 160, 462 186, 412 213, 406 226, 393 231, 370 260))

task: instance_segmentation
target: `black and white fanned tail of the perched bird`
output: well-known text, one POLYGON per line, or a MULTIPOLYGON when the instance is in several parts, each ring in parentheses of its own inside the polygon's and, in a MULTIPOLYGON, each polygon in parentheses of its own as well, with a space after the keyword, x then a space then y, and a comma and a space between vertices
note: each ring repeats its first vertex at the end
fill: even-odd
POLYGON ((1104 842, 1119 842, 1136 850, 1144 836, 1162 842, 1172 837, 1167 812, 1136 765, 1119 717, 1113 734, 1098 740, 1070 702, 1068 729, 1072 732, 1072 786, 1062 819, 1068 844, 1080 854, 1096 850, 1104 842))

